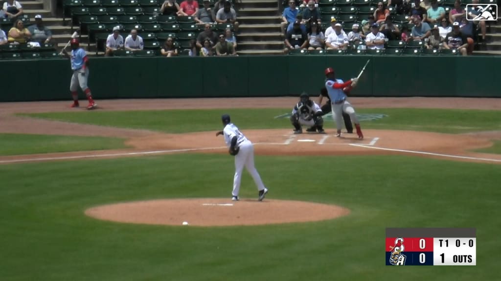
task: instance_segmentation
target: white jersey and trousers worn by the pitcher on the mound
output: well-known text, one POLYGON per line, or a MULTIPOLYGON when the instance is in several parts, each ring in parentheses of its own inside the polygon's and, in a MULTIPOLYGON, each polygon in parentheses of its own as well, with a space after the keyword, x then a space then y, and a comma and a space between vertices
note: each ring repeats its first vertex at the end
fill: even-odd
POLYGON ((254 145, 250 140, 248 140, 243 133, 241 133, 238 128, 233 123, 228 123, 223 129, 224 142, 228 148, 231 146, 231 139, 236 135, 236 146, 240 148, 238 154, 235 155, 235 176, 233 178, 233 191, 231 194, 233 196, 238 196, 240 190, 240 181, 242 178, 243 166, 250 173, 258 190, 265 190, 265 185, 261 180, 261 176, 258 170, 254 166, 254 145))

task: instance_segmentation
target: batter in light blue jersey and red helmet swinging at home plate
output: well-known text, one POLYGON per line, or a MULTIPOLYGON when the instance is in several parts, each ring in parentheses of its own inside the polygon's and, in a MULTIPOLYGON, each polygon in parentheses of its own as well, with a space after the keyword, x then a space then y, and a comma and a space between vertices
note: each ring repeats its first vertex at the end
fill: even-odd
POLYGON ((360 122, 357 118, 357 113, 353 106, 346 100, 346 92, 349 92, 358 81, 358 78, 352 78, 347 82, 343 82, 341 79, 336 79, 334 75, 334 69, 332 67, 325 69, 325 75, 327 76, 327 81, 325 82, 325 87, 327 88, 327 93, 331 99, 332 104, 332 115, 336 121, 337 133, 336 136, 341 136, 343 111, 350 115, 350 118, 355 123, 355 128, 357 129, 357 135, 359 139, 363 139, 362 129, 360 128, 360 122))

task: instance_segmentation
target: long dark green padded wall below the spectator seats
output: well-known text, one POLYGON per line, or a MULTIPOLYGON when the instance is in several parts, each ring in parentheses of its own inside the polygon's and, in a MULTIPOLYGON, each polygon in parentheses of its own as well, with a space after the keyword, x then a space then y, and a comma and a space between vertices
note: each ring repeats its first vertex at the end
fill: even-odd
MULTIPOLYGON (((349 79, 371 62, 356 96, 501 97, 501 56, 96 57, 96 99, 319 94, 324 69, 349 79)), ((71 99, 68 59, 0 61, 0 101, 71 99)))

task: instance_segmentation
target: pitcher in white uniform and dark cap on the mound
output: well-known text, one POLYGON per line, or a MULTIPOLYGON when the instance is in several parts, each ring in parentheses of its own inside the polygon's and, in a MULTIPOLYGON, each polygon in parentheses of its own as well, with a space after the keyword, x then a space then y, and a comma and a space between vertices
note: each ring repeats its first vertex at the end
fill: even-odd
POLYGON ((235 156, 235 176, 233 177, 233 191, 231 192, 231 200, 238 201, 238 192, 240 191, 240 181, 242 178, 243 166, 250 173, 256 186, 258 187, 258 200, 262 201, 268 193, 268 188, 265 187, 258 170, 254 166, 254 145, 248 140, 238 128, 231 123, 228 114, 221 116, 221 121, 224 126, 222 131, 218 131, 216 136, 223 134, 224 142, 229 148, 231 155, 235 156))

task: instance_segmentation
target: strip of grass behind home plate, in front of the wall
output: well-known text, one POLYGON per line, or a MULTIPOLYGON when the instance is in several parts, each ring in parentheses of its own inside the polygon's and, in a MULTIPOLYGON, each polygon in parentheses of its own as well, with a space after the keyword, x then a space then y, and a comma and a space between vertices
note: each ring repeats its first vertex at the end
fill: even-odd
MULTIPOLYGON (((231 114, 232 120, 242 129, 291 127, 290 121, 287 118, 274 118, 275 116, 289 113, 291 110, 291 108, 272 108, 79 111, 23 115, 78 123, 180 133, 220 129, 220 116, 223 113, 231 114)), ((361 108, 357 109, 357 112, 387 115, 382 119, 363 121, 364 128, 424 130, 446 133, 501 129, 499 111, 496 110, 361 108)))

